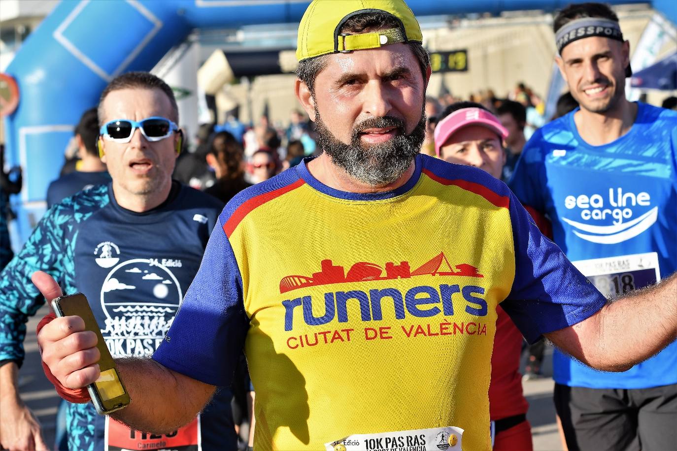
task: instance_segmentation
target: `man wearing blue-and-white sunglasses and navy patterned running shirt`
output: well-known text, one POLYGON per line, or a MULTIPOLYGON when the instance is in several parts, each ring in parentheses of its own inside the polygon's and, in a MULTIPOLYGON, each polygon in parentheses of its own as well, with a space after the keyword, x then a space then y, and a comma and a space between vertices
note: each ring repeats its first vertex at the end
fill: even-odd
MULTIPOLYGON (((16 389, 25 323, 44 302, 31 275, 42 270, 69 293, 85 293, 114 356, 150 355, 173 322, 223 208, 171 179, 182 134, 174 95, 160 78, 146 72, 115 78, 98 116, 97 148, 112 183, 53 206, 0 277, 1 448, 45 448, 16 389)), ((97 415, 91 403, 69 403, 69 448, 232 450, 231 398, 223 389, 199 419, 157 437, 97 415)))

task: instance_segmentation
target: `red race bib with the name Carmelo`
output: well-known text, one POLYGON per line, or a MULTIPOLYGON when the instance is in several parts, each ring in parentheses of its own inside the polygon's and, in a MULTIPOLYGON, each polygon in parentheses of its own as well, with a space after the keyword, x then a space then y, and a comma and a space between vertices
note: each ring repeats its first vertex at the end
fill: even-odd
POLYGON ((126 425, 106 417, 105 451, 202 451, 200 437, 199 416, 177 431, 162 435, 134 431, 126 425))

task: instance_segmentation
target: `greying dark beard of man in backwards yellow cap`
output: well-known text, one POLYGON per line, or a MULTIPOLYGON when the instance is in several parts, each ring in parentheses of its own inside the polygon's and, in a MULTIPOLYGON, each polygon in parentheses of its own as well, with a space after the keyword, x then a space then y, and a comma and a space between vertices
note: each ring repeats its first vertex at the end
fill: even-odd
POLYGON ((353 127, 350 144, 342 143, 332 135, 317 110, 315 117, 318 147, 353 179, 372 187, 388 185, 399 179, 409 169, 425 139, 426 122, 423 111, 420 121, 409 135, 406 134, 406 124, 401 119, 384 116, 364 120, 353 127), (396 127, 397 135, 385 143, 368 146, 362 144, 362 130, 387 127, 396 127))

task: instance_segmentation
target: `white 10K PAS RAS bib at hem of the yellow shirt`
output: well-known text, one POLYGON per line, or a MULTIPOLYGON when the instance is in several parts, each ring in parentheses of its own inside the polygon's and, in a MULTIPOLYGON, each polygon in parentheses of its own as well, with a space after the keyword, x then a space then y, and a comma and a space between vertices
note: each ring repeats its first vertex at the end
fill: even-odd
POLYGON ((463 429, 447 426, 355 434, 324 446, 326 451, 460 451, 462 437, 463 429))

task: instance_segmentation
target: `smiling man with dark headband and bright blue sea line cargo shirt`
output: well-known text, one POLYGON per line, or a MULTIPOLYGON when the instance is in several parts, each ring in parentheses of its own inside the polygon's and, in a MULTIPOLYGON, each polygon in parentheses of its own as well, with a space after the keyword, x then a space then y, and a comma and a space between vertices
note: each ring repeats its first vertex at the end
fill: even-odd
MULTIPOLYGON (((613 298, 677 270, 677 114, 626 99, 630 47, 609 7, 571 5, 554 30, 556 61, 580 108, 533 135, 511 187, 550 217, 555 243, 613 298)), ((655 311, 661 316, 658 303, 655 311)), ((569 450, 677 443, 677 343, 623 373, 556 351, 554 380, 569 450)))

